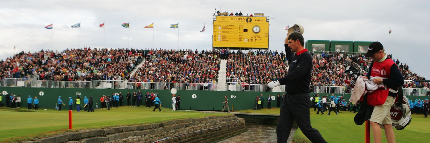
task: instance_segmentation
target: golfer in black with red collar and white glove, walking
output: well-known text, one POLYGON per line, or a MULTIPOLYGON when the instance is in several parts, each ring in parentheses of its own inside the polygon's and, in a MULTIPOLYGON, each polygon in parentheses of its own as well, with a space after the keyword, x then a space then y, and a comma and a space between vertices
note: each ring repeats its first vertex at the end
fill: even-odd
POLYGON ((312 57, 304 49, 301 33, 291 33, 285 39, 286 58, 290 61, 288 74, 267 86, 274 88, 286 85, 286 97, 283 98, 279 114, 276 135, 278 143, 286 143, 295 121, 303 134, 312 143, 326 143, 319 131, 310 125, 309 85, 312 70, 312 57))

